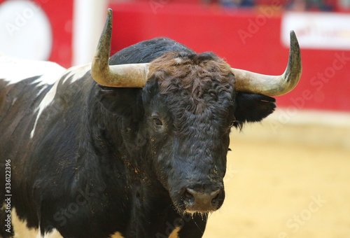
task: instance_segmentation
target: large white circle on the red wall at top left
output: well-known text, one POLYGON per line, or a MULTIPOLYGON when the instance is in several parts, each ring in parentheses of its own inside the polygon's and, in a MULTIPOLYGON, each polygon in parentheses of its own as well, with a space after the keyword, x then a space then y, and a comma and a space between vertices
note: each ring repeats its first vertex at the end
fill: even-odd
POLYGON ((52 29, 36 3, 13 0, 0 3, 0 52, 24 59, 48 60, 52 29))

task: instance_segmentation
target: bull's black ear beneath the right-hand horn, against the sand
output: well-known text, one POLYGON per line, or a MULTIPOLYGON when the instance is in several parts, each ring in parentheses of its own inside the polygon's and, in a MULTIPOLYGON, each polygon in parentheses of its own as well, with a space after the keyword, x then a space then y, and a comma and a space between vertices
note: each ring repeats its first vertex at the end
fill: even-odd
POLYGON ((236 92, 235 118, 237 125, 259 122, 271 114, 276 105, 276 99, 262 94, 236 92))

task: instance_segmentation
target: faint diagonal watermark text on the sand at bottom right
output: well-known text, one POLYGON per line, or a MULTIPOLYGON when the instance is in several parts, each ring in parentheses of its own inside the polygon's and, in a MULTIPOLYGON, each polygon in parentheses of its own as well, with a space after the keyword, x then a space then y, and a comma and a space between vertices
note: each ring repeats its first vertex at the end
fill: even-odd
POLYGON ((327 200, 324 200, 321 195, 311 196, 311 202, 305 209, 302 209, 298 214, 294 214, 288 221, 286 221, 286 228, 288 230, 279 232, 278 238, 288 238, 290 234, 296 233, 307 221, 311 220, 312 216, 319 211, 327 200))

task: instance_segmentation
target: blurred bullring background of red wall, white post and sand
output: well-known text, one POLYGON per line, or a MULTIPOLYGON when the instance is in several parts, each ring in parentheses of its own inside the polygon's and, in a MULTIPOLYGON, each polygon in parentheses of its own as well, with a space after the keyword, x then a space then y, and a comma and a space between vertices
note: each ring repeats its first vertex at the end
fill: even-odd
POLYGON ((350 0, 0 0, 0 52, 91 62, 106 8, 112 53, 166 36, 267 74, 283 73, 294 30, 300 83, 232 132, 226 200, 204 237, 350 238, 350 0))

